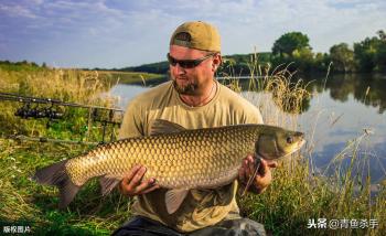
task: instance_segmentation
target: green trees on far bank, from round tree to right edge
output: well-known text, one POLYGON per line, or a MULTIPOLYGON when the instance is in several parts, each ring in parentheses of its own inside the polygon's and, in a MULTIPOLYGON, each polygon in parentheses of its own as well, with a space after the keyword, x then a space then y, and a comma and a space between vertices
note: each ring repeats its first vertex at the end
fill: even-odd
POLYGON ((376 34, 353 47, 340 43, 331 46, 330 53, 313 53, 307 34, 286 33, 274 43, 271 62, 274 65, 293 62, 302 72, 325 71, 330 63, 332 71, 340 73, 386 72, 386 35, 382 30, 376 34))

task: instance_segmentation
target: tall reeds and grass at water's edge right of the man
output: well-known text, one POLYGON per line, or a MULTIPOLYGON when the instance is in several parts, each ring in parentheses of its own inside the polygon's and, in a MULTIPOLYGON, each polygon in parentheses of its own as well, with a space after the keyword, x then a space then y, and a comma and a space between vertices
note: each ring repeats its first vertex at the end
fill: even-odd
MULTIPOLYGON (((266 124, 301 129, 298 114, 311 97, 307 84, 301 79, 292 82, 293 74, 286 67, 270 71, 269 65, 261 68, 256 58, 251 58, 250 74, 257 74, 250 77, 249 89, 259 93, 244 93, 244 96, 260 108, 266 124)), ((307 143, 302 154, 279 162, 274 170, 274 182, 265 193, 240 199, 243 215, 265 224, 272 235, 383 235, 386 232, 386 185, 379 185, 374 196, 371 173, 363 176, 362 172, 354 171, 358 165, 358 147, 368 135, 369 131, 364 130, 347 142, 322 173, 314 171, 317 168, 310 158, 314 143, 307 143), (367 226, 308 228, 310 221, 318 223, 319 218, 326 218, 328 224, 331 219, 364 219, 367 226), (378 224, 374 229, 368 225, 372 219, 378 224)))

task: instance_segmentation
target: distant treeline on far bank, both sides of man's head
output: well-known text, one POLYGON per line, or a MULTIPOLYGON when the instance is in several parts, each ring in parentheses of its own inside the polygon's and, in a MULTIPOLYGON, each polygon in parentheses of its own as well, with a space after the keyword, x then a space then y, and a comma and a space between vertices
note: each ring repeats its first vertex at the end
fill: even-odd
MULTIPOLYGON (((219 74, 249 75, 254 65, 255 54, 226 55, 219 74)), ((376 36, 354 43, 340 43, 331 46, 329 53, 314 53, 307 34, 289 32, 274 43, 271 52, 257 53, 260 65, 270 65, 271 69, 279 65, 289 65, 291 71, 303 73, 323 72, 329 69, 337 73, 372 73, 386 72, 386 34, 383 30, 376 36)), ((125 67, 119 71, 148 72, 165 74, 169 71, 167 61, 125 67)))

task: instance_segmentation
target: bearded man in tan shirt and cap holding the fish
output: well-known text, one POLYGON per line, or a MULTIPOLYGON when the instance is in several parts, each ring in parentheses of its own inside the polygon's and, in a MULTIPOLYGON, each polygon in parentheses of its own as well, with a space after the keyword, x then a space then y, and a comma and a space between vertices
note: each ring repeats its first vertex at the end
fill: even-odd
MULTIPOLYGON (((254 105, 215 81, 222 56, 219 34, 213 25, 201 21, 180 25, 171 36, 168 61, 172 79, 129 104, 120 138, 148 136, 156 119, 186 129, 262 122, 254 105)), ((270 168, 276 165, 262 160, 249 191, 262 192, 271 182, 270 168)), ((237 181, 215 190, 191 190, 173 214, 167 212, 164 204, 167 190, 154 178, 141 181, 146 167, 135 167, 121 181, 120 191, 136 196, 136 216, 114 234, 264 235, 262 225, 239 216, 236 203, 238 185, 248 181, 254 167, 253 157, 246 157, 237 181)))

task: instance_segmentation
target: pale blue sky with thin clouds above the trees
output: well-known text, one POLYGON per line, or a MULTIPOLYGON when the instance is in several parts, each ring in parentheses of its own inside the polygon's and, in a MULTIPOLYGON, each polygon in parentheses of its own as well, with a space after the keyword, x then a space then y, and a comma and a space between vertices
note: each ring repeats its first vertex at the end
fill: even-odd
POLYGON ((206 21, 222 54, 269 52, 300 31, 313 52, 386 31, 385 0, 0 0, 0 61, 121 68, 165 61, 185 21, 206 21))

